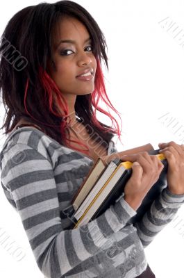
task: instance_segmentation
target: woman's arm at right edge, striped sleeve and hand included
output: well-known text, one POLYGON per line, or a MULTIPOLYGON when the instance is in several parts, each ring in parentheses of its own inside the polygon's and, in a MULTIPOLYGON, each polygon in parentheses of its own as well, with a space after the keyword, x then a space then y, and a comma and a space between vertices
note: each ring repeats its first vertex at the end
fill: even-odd
POLYGON ((169 222, 174 219, 178 208, 184 204, 184 146, 175 142, 159 145, 168 162, 167 188, 153 202, 142 220, 135 224, 137 234, 144 247, 169 222))

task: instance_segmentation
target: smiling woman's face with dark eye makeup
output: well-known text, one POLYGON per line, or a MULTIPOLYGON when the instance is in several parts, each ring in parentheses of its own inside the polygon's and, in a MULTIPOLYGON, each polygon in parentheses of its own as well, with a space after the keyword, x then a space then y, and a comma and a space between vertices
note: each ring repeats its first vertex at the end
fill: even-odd
POLYGON ((55 31, 53 60, 56 72, 49 65, 51 78, 66 97, 67 95, 69 97, 69 95, 92 93, 97 61, 92 53, 92 44, 87 28, 77 19, 66 17, 62 19, 55 31), (69 40, 71 42, 67 42, 69 40), (85 80, 81 80, 77 76, 83 74, 84 71, 93 73, 86 76, 85 80))

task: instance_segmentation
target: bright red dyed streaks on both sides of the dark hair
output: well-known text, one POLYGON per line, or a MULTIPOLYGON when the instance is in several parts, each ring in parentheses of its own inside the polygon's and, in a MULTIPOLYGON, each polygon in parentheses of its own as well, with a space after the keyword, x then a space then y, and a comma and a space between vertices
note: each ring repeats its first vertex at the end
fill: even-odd
MULTIPOLYGON (((51 79, 49 74, 47 74, 47 72, 42 69, 42 67, 39 68, 39 76, 40 76, 40 82, 42 84, 42 88, 44 89, 44 98, 48 99, 48 104, 46 104, 46 105, 49 105, 49 112, 52 113, 53 115, 56 115, 56 117, 61 118, 60 133, 62 135, 62 139, 64 140, 65 144, 68 145, 67 141, 69 141, 69 142, 76 142, 76 143, 78 143, 78 145, 83 145, 83 146, 87 147, 87 145, 84 145, 83 143, 81 143, 79 141, 69 140, 66 138, 65 129, 68 126, 67 118, 69 117, 69 114, 68 114, 69 109, 67 106, 67 102, 65 101, 65 98, 62 96, 62 92, 60 92, 56 83, 53 81, 53 79, 51 79), (57 113, 53 109, 54 101, 58 105, 58 108, 60 110, 59 113, 57 113), (61 111, 63 111, 63 114, 61 113, 61 111)), ((24 108, 28 115, 30 115, 36 122, 40 122, 39 120, 36 120, 31 115, 31 113, 28 112, 28 110, 26 108, 27 92, 28 92, 28 79, 26 80, 26 88, 25 88, 25 94, 24 94, 24 108)), ((111 108, 113 111, 115 111, 115 113, 117 113, 117 115, 119 115, 118 111, 112 106, 110 99, 108 99, 108 95, 106 94, 106 87, 105 87, 105 83, 104 83, 104 79, 103 79, 103 72, 101 70, 100 62, 99 62, 99 60, 97 60, 97 70, 96 70, 96 75, 95 75, 95 80, 94 80, 94 91, 92 92, 92 105, 94 106, 94 114, 92 115, 92 122, 96 126, 98 126, 98 128, 100 130, 103 130, 104 132, 112 131, 113 133, 116 133, 119 137, 119 140, 121 141, 120 136, 121 136, 122 127, 120 130, 119 124, 118 124, 117 120, 115 120, 115 117, 110 115, 110 113, 108 113, 107 111, 104 111, 103 108, 99 107, 98 104, 99 104, 100 99, 102 99, 106 103, 108 108, 111 108), (112 124, 114 124, 114 123, 116 124, 114 129, 113 128, 106 129, 99 124, 99 122, 97 120, 97 116, 96 116, 97 110, 103 114, 106 114, 108 117, 110 117, 112 124)), ((121 120, 120 116, 119 116, 119 118, 121 120)), ((70 118, 69 118, 69 123, 70 123, 70 118)), ((45 122, 40 122, 40 124, 47 125, 47 126, 53 126, 53 125, 47 124, 45 122)), ((70 144, 69 144, 69 147, 70 147, 70 144)), ((87 147, 87 150, 84 150, 84 149, 81 150, 76 147, 72 147, 72 148, 76 149, 79 152, 85 152, 85 153, 87 153, 87 155, 90 152, 88 147, 87 147)))

